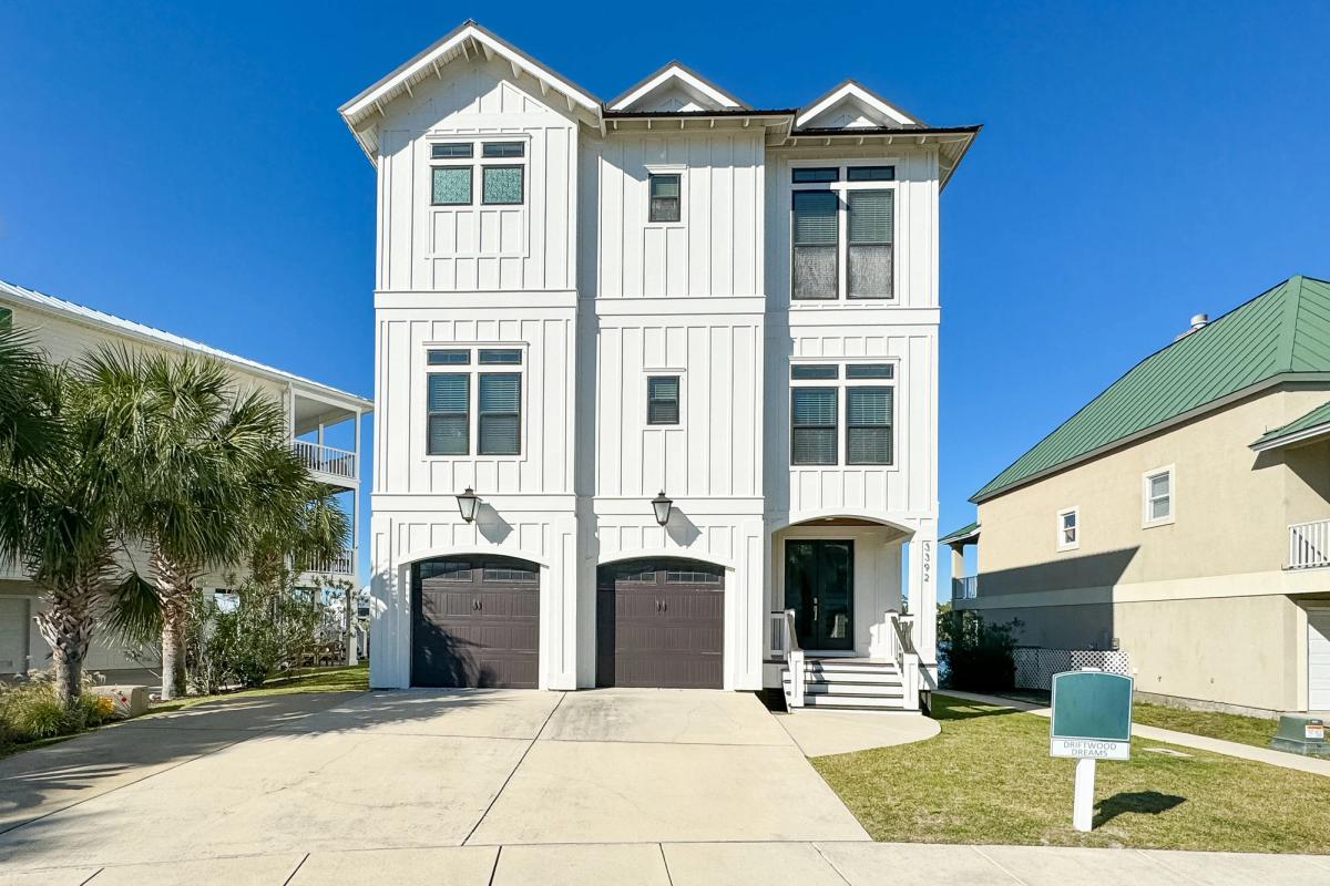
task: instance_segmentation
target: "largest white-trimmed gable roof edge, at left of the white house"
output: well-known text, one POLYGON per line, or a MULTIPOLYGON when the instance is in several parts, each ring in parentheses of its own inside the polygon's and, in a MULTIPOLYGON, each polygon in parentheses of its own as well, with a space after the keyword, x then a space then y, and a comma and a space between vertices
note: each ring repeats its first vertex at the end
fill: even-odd
POLYGON ((439 37, 436 41, 418 52, 406 62, 398 65, 391 73, 379 78, 371 86, 362 89, 355 98, 347 101, 338 113, 351 129, 351 134, 360 142, 360 147, 374 161, 374 151, 378 147, 378 137, 370 122, 375 116, 383 114, 383 108, 400 98, 412 94, 412 86, 428 77, 443 77, 440 69, 456 58, 471 58, 483 56, 484 58, 500 57, 512 65, 512 73, 527 73, 536 78, 541 89, 552 89, 568 102, 568 110, 581 109, 593 121, 600 121, 601 101, 589 90, 583 89, 568 77, 545 66, 540 61, 517 49, 511 43, 492 31, 467 19, 460 25, 439 37))

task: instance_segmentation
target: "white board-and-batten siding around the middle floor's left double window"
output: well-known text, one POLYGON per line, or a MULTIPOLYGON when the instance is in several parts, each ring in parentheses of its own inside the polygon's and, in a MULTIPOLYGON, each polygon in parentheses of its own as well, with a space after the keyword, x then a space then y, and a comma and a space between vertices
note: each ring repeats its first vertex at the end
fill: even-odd
POLYGON ((375 491, 572 493, 573 348, 572 308, 380 308, 375 491), (426 453, 427 351, 451 345, 524 348, 520 456, 426 453))

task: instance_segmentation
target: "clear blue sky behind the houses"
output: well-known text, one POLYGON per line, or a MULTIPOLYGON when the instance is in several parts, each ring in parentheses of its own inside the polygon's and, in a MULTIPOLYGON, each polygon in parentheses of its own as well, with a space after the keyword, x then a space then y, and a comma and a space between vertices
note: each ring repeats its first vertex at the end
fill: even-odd
MULTIPOLYGON (((943 195, 942 529, 1197 312, 1330 278, 1330 5, 0 5, 0 279, 370 395, 336 108, 476 17, 602 98, 680 58, 986 124, 943 195)), ((942 558, 946 573, 946 558, 942 558)))

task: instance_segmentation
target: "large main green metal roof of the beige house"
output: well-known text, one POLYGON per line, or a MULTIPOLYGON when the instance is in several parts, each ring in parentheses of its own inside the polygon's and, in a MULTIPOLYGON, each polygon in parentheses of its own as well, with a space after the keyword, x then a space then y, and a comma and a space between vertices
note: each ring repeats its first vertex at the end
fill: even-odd
POLYGON ((1330 282, 1293 276, 1137 363, 975 493, 979 502, 1244 388, 1330 372, 1330 282))

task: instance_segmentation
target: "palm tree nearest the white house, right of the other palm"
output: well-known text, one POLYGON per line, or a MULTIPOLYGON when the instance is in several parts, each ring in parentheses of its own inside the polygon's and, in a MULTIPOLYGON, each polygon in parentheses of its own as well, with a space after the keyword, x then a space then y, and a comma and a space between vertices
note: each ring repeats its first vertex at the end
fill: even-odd
POLYGON ((126 534, 148 554, 161 618, 162 699, 184 691, 184 627, 200 578, 242 562, 253 489, 274 441, 279 402, 241 395, 226 368, 194 356, 101 349, 86 372, 96 410, 117 426, 114 462, 132 472, 126 534))

